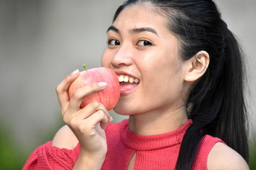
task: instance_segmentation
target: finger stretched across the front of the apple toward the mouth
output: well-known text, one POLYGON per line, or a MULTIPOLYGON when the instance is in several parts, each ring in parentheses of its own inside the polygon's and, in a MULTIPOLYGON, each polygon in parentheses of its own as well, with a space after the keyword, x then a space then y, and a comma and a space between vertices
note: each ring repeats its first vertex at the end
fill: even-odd
POLYGON ((98 91, 102 91, 105 89, 105 86, 102 83, 90 84, 88 86, 84 86, 73 92, 72 97, 70 98, 69 108, 71 111, 79 111, 80 105, 82 103, 82 99, 86 96, 90 96, 91 94, 95 94, 98 91))

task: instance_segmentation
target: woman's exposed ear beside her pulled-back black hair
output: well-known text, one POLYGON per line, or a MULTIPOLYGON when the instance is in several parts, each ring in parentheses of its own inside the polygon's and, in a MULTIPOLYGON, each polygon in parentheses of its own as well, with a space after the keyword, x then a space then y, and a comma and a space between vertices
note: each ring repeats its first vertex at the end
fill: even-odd
POLYGON ((206 72, 206 69, 210 63, 210 56, 208 55, 208 52, 200 51, 186 62, 186 73, 184 75, 184 80, 196 81, 206 72))

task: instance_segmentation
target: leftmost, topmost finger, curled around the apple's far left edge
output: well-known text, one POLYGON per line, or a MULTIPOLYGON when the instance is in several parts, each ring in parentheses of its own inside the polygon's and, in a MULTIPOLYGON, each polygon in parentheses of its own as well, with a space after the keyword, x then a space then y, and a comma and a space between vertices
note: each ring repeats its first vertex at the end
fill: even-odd
POLYGON ((56 87, 55 91, 58 96, 60 107, 67 106, 67 103, 69 101, 68 87, 76 78, 78 78, 79 74, 79 70, 76 69, 74 72, 65 77, 65 79, 63 79, 63 81, 61 81, 60 84, 58 84, 58 86, 56 87))

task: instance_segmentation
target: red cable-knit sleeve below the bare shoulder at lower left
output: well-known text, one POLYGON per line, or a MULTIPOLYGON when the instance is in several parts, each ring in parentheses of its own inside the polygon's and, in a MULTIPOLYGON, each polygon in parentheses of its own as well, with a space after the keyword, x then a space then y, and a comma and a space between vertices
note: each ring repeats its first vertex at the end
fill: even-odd
POLYGON ((79 156, 79 145, 75 149, 53 147, 51 141, 38 147, 28 157, 23 170, 73 169, 79 156))

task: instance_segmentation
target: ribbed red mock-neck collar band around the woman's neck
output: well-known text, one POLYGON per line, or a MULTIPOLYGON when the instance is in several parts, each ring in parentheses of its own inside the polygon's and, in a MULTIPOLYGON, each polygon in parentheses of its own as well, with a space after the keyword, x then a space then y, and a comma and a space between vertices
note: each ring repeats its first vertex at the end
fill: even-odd
POLYGON ((137 135, 129 130, 128 124, 129 120, 123 120, 120 123, 119 132, 122 143, 130 149, 146 151, 181 144, 186 130, 192 124, 192 120, 188 120, 176 130, 159 135, 137 135))

